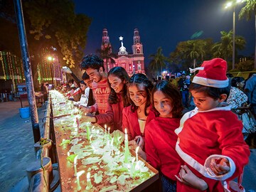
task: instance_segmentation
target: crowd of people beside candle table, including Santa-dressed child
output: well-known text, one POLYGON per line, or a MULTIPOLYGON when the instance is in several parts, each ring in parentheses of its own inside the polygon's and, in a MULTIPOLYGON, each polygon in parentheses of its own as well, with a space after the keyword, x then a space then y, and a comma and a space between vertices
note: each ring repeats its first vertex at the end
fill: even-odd
POLYGON ((122 138, 127 132, 130 149, 139 146, 139 156, 159 170, 161 191, 242 190, 250 150, 239 114, 255 114, 256 76, 245 87, 243 78, 228 79, 221 58, 191 70, 199 70, 192 80, 182 74, 176 82, 142 73, 129 78, 122 67, 106 73, 103 64, 86 55, 82 80, 66 68, 73 80, 58 87, 82 110, 82 121, 106 124, 122 138), (195 109, 183 114, 192 97, 195 109))

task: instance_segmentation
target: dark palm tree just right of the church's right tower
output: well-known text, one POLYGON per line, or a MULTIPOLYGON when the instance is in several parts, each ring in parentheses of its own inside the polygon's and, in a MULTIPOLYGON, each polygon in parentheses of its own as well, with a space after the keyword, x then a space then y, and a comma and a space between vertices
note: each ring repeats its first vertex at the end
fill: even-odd
POLYGON ((162 48, 159 47, 156 50, 156 54, 149 55, 149 58, 151 58, 151 61, 149 62, 149 70, 151 73, 154 73, 154 75, 161 75, 162 68, 166 67, 165 61, 168 60, 162 53, 162 48))

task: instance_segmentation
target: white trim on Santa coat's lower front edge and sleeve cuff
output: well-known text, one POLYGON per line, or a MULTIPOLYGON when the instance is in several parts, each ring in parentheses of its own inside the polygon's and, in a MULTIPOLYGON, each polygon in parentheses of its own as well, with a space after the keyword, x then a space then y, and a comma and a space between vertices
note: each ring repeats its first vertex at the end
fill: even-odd
POLYGON ((223 155, 218 155, 218 154, 213 154, 211 156, 208 156, 208 158, 205 161, 205 166, 203 166, 200 163, 198 163, 198 161, 196 161, 196 159, 193 159, 191 156, 189 156, 188 154, 183 152, 181 147, 178 144, 179 144, 179 139, 176 142, 176 151, 177 151, 178 155, 181 156, 181 159, 183 159, 183 161, 185 161, 188 165, 193 167, 193 169, 196 169, 196 171, 198 171, 203 176, 205 176, 207 178, 214 179, 214 180, 218 180, 218 181, 225 181, 227 178, 229 178, 230 176, 232 176, 234 174, 234 172, 235 172, 235 163, 232 159, 230 159, 230 157, 223 156, 223 155), (230 161, 230 171, 227 174, 216 176, 213 173, 213 171, 208 167, 208 166, 210 166, 210 160, 213 157, 227 158, 228 161, 230 161))

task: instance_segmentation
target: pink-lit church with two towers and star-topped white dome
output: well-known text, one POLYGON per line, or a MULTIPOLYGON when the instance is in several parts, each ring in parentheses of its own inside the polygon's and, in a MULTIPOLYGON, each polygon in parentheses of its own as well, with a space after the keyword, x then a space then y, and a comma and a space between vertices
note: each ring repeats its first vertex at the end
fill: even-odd
MULTIPOLYGON (((140 41, 139 30, 134 29, 133 45, 132 45, 132 54, 128 54, 126 48, 124 47, 123 37, 119 37, 121 41, 121 47, 117 53, 117 58, 113 58, 115 63, 111 63, 110 60, 104 59, 105 70, 108 72, 111 68, 115 66, 120 66, 127 70, 128 75, 134 73, 145 73, 144 69, 144 53, 143 46, 140 41)), ((104 28, 102 31, 102 50, 105 48, 108 49, 109 54, 112 53, 112 47, 110 43, 110 37, 108 36, 107 29, 104 28)))

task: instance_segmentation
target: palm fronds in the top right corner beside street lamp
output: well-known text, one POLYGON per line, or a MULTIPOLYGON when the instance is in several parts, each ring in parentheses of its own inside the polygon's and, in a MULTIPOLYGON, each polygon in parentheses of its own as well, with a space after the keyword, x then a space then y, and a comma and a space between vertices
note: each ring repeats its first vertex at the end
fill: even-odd
POLYGON ((246 0, 245 6, 241 9, 239 13, 239 19, 245 17, 246 20, 250 20, 252 14, 255 16, 255 67, 256 68, 256 1, 246 0))

